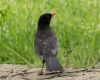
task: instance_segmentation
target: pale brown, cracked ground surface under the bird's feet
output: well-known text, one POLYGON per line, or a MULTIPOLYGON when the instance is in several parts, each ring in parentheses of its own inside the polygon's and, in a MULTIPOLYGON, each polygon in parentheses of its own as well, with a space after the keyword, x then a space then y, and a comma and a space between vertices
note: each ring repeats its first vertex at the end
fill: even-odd
POLYGON ((0 65, 0 80, 100 80, 100 69, 65 68, 63 74, 38 75, 40 68, 25 65, 0 65))

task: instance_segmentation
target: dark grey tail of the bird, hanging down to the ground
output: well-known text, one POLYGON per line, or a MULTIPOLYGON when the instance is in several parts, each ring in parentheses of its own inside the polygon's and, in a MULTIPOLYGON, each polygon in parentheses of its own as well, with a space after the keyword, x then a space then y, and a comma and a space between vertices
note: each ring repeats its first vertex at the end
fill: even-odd
POLYGON ((56 56, 49 56, 45 58, 46 67, 48 71, 60 71, 63 72, 62 66, 59 63, 56 56))

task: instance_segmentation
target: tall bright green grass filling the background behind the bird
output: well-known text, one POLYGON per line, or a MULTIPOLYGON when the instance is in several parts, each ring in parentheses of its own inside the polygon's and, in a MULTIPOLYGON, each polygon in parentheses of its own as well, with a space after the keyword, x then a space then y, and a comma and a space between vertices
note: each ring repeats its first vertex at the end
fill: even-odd
POLYGON ((56 11, 51 26, 63 67, 100 61, 100 0, 0 0, 0 63, 40 67, 34 33, 42 13, 56 11))

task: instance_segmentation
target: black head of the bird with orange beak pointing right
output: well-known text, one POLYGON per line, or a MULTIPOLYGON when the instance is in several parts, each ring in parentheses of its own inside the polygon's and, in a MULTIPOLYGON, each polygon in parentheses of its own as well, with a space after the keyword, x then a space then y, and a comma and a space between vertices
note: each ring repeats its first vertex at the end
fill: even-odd
POLYGON ((38 27, 41 29, 49 27, 51 18, 55 14, 56 14, 55 12, 42 14, 38 20, 38 27))

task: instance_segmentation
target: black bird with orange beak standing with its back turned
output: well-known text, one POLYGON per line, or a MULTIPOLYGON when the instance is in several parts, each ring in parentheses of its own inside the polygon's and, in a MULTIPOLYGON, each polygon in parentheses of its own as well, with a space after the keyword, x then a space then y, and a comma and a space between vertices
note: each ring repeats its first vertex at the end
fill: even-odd
POLYGON ((50 26, 51 18, 54 15, 56 15, 56 12, 44 13, 39 17, 37 23, 34 47, 42 61, 40 74, 43 74, 44 64, 46 64, 46 69, 49 72, 63 72, 62 65, 57 59, 58 40, 50 26))

